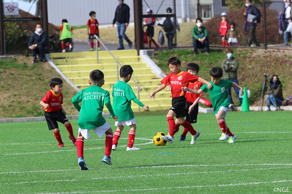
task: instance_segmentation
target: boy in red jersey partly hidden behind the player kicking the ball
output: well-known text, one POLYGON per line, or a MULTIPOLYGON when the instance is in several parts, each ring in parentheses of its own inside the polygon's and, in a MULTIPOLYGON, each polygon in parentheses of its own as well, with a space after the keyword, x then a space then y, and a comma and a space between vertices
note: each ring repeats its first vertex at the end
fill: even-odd
MULTIPOLYGON (((189 63, 186 66, 186 71, 192 75, 198 75, 200 70, 200 67, 196 63, 189 63)), ((200 89, 203 84, 199 81, 196 81, 194 83, 189 83, 189 88, 193 89, 200 89)), ((197 122, 197 116, 199 112, 199 100, 202 96, 202 93, 200 95, 196 95, 194 93, 191 93, 189 91, 186 92, 186 107, 185 107, 185 113, 186 113, 186 121, 189 123, 196 123, 197 122)), ((175 132, 176 133, 179 130, 180 125, 175 125, 175 132)), ((180 136, 179 141, 185 141, 186 134, 188 133, 188 130, 186 128, 183 129, 182 135, 180 136)), ((192 139, 190 144, 194 144, 196 141, 194 139, 194 136, 192 135, 192 139)))

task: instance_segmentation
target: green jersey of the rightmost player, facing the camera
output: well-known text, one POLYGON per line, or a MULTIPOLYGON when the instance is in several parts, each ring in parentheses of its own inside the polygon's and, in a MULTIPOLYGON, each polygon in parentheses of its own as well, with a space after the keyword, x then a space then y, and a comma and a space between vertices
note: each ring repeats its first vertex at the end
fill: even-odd
POLYGON ((225 106, 226 108, 228 108, 229 95, 226 89, 230 89, 233 82, 227 79, 220 79, 219 84, 214 84, 213 82, 210 82, 210 83, 213 86, 211 89, 208 89, 206 84, 203 85, 201 89, 204 92, 210 93, 210 98, 211 98, 211 103, 214 109, 214 114, 217 114, 221 106, 225 106))

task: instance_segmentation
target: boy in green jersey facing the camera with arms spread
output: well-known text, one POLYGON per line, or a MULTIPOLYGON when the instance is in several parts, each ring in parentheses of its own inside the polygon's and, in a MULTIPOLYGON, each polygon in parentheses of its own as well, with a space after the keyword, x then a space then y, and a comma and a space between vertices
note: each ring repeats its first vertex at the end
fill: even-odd
POLYGON ((231 86, 240 89, 241 95, 243 95, 243 89, 237 83, 227 79, 221 79, 223 76, 223 70, 220 67, 213 67, 210 72, 212 88, 208 89, 207 85, 203 85, 199 90, 182 87, 183 91, 189 91, 195 94, 200 94, 203 91, 210 93, 211 102, 213 105, 214 113, 217 122, 222 130, 222 135, 219 140, 228 139, 229 143, 234 143, 236 135, 230 132, 225 122, 225 117, 229 109, 229 95, 226 89, 230 89, 231 86))

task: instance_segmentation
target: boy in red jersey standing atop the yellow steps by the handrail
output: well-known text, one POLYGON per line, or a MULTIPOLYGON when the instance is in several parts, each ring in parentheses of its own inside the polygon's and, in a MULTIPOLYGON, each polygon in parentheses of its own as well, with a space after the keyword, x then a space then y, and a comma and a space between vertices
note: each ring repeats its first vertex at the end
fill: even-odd
MULTIPOLYGON (((99 31, 98 31, 98 21, 95 18, 95 12, 91 11, 89 13, 90 15, 90 19, 87 22, 87 34, 88 34, 88 39, 90 40, 90 45, 91 45, 91 49, 89 51, 94 51, 93 46, 94 46, 94 42, 93 39, 95 39, 94 35, 97 35, 97 37, 99 37, 99 31), (89 28, 90 28, 90 33, 89 33, 89 28)), ((99 48, 99 42, 97 42, 97 50, 100 51, 99 48)))

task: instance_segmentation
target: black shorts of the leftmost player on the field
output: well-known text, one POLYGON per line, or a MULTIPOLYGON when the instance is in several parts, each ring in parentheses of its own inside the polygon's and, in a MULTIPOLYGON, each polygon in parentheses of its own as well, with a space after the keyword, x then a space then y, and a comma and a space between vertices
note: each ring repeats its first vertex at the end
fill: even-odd
POLYGON ((58 122, 65 123, 68 121, 62 109, 58 110, 57 112, 46 112, 45 111, 45 118, 49 127, 49 130, 58 128, 58 122))

